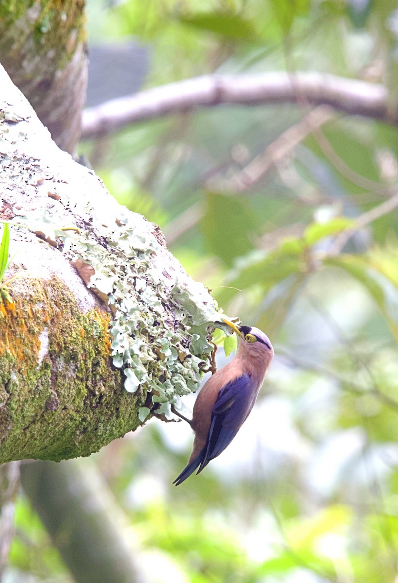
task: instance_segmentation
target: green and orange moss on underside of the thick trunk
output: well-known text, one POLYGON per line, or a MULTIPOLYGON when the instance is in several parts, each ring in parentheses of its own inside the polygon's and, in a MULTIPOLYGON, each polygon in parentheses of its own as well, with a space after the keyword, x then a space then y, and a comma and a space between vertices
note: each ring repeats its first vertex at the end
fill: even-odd
POLYGON ((0 318, 0 462, 89 455, 136 429, 145 395, 109 366, 109 314, 82 314, 57 279, 24 287, 0 318))

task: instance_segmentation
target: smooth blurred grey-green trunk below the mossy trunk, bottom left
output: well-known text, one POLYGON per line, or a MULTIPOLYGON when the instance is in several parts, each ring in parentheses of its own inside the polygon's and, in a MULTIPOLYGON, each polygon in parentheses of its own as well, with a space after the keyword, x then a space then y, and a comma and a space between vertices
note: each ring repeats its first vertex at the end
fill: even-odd
POLYGON ((93 463, 23 463, 21 482, 76 583, 143 583, 126 520, 93 463))

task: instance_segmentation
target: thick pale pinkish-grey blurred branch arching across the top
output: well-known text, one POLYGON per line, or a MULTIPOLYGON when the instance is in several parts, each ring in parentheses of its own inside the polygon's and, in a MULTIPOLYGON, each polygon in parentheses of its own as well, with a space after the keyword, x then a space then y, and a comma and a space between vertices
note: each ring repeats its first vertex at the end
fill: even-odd
POLYGON ((117 131, 127 124, 220 104, 260 106, 271 103, 329 105, 351 115, 398 123, 387 106, 387 91, 356 79, 324 73, 285 72, 262 75, 208 75, 169 83, 130 97, 107 101, 83 112, 83 138, 117 131))

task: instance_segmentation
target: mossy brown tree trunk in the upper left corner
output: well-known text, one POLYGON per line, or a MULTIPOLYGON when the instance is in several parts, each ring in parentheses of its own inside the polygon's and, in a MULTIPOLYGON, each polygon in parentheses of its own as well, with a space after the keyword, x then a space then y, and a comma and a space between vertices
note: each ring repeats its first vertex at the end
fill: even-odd
POLYGON ((0 62, 52 139, 73 153, 86 101, 84 0, 5 0, 0 62))

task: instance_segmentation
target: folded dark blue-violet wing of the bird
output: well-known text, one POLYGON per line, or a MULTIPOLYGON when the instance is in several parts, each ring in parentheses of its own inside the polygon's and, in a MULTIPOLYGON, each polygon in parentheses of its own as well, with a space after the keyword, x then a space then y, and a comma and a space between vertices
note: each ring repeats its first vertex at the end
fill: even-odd
MULTIPOLYGON (((228 382, 214 403, 207 442, 200 455, 198 472, 230 444, 253 406, 253 384, 248 374, 228 382)), ((191 470, 190 473, 194 471, 191 470)))

